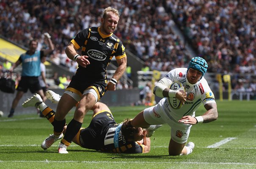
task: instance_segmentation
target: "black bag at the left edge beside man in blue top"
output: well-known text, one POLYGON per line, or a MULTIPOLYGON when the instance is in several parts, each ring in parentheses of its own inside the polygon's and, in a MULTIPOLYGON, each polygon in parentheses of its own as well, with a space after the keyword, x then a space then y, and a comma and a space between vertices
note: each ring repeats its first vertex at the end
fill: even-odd
POLYGON ((1 77, 0 79, 0 90, 5 93, 15 92, 15 82, 9 77, 1 77))

